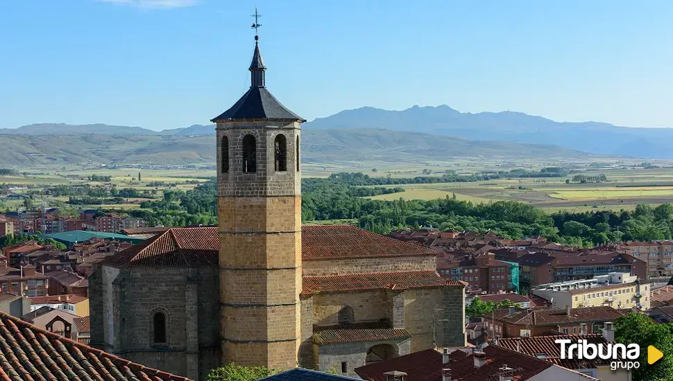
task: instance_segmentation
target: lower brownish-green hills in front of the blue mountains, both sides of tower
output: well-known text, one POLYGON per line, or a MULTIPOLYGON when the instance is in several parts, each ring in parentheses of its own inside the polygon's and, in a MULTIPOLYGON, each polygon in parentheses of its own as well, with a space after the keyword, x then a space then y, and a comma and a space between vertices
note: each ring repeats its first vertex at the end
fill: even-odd
MULTIPOLYGON (((488 160, 583 159, 594 155, 553 145, 471 141, 386 130, 304 130, 303 160, 337 163, 380 160, 422 162, 452 157, 488 160)), ((3 167, 66 164, 186 165, 215 162, 212 135, 0 134, 3 167)))

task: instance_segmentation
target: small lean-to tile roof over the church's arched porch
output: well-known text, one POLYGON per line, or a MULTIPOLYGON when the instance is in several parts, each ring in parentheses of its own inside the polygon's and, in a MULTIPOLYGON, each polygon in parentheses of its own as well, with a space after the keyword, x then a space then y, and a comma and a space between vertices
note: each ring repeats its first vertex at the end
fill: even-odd
POLYGON ((315 326, 313 342, 334 344, 349 342, 377 342, 380 340, 407 339, 411 337, 405 329, 393 329, 387 322, 354 323, 338 326, 315 326))

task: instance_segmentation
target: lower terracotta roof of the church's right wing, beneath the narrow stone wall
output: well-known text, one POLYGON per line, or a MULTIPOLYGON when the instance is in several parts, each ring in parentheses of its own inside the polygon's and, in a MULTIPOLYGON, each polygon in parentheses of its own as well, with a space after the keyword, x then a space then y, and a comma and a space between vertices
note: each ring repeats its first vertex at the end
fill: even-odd
POLYGON ((360 290, 404 290, 407 288, 465 287, 463 282, 446 281, 432 270, 407 272, 377 272, 328 276, 303 276, 302 294, 360 290))

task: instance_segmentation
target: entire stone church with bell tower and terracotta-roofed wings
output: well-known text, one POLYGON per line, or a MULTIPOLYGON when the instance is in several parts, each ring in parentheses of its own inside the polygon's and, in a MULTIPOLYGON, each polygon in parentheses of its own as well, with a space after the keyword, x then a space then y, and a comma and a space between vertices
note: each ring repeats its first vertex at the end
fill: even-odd
POLYGON ((435 251, 301 225, 300 123, 265 87, 217 116, 219 227, 174 228, 96 265, 91 344, 172 373, 219 364, 346 369, 465 346, 464 288, 435 251))

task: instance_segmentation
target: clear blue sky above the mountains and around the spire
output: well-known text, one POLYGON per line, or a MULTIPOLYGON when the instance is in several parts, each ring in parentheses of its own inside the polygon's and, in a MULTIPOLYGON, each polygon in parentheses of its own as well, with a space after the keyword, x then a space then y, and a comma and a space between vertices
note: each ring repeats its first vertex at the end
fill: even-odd
POLYGON ((250 85, 308 120, 450 105, 673 127, 673 1, 1 0, 0 127, 207 124, 250 85))

